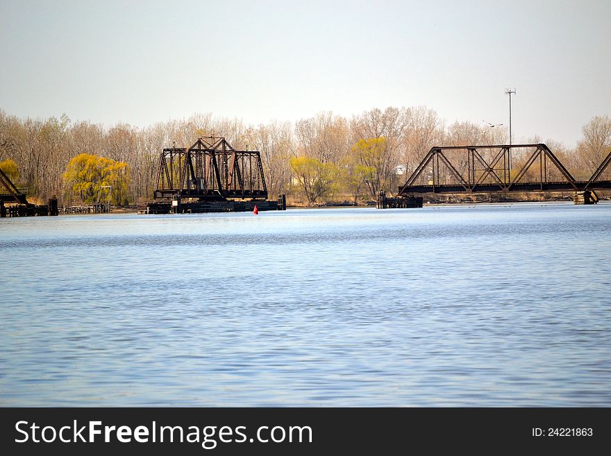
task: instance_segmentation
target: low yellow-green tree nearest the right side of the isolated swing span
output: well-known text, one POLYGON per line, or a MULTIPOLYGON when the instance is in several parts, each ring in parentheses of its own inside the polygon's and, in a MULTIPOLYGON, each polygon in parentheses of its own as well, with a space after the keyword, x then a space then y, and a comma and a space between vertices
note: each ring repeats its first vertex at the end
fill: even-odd
POLYGON ((314 204, 317 199, 337 189, 335 164, 305 156, 291 158, 290 164, 308 203, 314 204))

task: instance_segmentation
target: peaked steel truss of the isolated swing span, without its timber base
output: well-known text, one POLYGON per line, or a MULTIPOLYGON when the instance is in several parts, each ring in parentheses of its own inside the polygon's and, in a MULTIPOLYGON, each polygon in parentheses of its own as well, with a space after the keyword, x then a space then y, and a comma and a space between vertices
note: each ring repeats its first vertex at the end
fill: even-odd
POLYGON ((163 149, 156 199, 267 199, 258 151, 237 151, 224 137, 201 137, 187 149, 163 149))

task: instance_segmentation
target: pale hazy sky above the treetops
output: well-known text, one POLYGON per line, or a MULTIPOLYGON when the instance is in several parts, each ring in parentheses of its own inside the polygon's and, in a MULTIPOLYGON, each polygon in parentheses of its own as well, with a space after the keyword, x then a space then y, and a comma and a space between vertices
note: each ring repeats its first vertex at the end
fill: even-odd
POLYGON ((0 0, 0 109, 139 127, 425 105, 572 147, 611 116, 611 1, 0 0))

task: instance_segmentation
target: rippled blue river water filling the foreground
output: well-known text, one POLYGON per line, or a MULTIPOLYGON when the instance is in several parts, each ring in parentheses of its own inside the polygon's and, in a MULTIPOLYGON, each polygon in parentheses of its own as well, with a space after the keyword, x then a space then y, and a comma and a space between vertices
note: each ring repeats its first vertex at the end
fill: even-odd
POLYGON ((611 204, 0 219, 3 406, 611 406, 611 204))

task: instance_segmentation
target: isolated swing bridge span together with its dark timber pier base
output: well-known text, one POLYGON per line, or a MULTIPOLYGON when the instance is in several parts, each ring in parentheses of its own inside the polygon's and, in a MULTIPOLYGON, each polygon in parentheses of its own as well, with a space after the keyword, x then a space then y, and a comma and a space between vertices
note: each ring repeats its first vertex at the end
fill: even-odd
POLYGON ((258 210, 286 208, 284 195, 278 201, 267 201, 267 196, 258 151, 233 149, 224 137, 201 137, 189 148, 162 150, 156 201, 139 212, 246 211, 255 205, 258 210))

